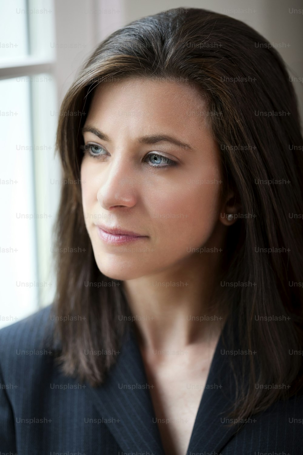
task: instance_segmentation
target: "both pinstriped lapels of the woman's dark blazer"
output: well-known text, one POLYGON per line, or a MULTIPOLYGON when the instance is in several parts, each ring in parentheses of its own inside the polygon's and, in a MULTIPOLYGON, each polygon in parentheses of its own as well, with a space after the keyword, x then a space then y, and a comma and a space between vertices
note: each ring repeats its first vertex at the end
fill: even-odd
MULTIPOLYGON (((228 349, 228 326, 236 314, 227 319, 214 351, 206 386, 199 404, 187 455, 197 452, 220 453, 239 425, 227 428, 225 415, 235 399, 235 383, 225 350, 228 349), (226 339, 226 345, 223 344, 226 339), (219 388, 214 388, 218 384, 219 388), (221 387, 222 386, 222 387, 221 387)), ((236 325, 234 326, 236 328, 236 325)), ((235 346, 239 346, 235 331, 235 346)), ((242 356, 234 358, 240 365, 242 356)), ((104 384, 85 389, 93 400, 100 417, 114 418, 105 423, 124 452, 147 452, 164 455, 149 385, 136 336, 132 329, 126 333, 117 362, 104 384)), ((104 420, 103 420, 104 421, 104 420)), ((185 455, 185 454, 184 454, 185 455)))

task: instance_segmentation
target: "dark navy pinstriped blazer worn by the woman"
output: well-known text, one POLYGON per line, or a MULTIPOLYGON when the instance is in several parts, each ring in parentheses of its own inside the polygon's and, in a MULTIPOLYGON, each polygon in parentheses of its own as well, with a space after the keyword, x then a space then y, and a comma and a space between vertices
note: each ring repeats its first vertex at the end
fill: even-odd
MULTIPOLYGON (((125 335, 106 383, 94 389, 61 374, 45 350, 50 308, 0 330, 0 455, 164 455, 134 332, 125 335)), ((237 425, 225 428, 235 389, 221 349, 222 334, 187 455, 302 454, 302 396, 276 402, 238 432, 237 425)))

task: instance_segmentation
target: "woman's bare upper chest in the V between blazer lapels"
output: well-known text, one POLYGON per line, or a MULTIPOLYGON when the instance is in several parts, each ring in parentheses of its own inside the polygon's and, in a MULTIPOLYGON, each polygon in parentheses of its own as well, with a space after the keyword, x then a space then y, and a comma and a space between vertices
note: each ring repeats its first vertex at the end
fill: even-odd
POLYGON ((212 353, 204 359, 167 359, 161 367, 145 365, 165 454, 185 455, 204 392, 212 353))

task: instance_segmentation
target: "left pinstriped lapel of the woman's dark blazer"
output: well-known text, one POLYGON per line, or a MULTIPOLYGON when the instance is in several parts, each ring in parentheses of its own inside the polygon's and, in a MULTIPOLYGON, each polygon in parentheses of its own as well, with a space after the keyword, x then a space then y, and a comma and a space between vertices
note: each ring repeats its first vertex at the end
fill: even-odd
POLYGON ((133 329, 126 333, 116 364, 104 384, 87 389, 105 423, 126 453, 164 455, 143 360, 133 329))

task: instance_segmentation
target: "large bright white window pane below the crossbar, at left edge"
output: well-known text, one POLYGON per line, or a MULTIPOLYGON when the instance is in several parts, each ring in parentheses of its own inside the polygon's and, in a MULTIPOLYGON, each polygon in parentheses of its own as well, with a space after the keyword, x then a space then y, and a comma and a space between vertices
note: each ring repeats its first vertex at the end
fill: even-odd
POLYGON ((0 327, 38 302, 30 83, 0 81, 0 327))

